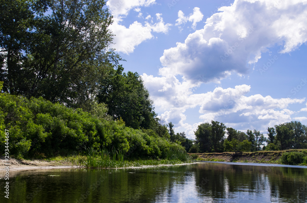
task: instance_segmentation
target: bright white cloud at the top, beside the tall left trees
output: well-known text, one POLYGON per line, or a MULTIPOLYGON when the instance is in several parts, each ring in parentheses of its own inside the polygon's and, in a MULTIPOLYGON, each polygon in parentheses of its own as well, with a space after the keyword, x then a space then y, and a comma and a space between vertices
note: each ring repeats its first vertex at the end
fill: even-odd
POLYGON ((109 26, 114 36, 113 43, 110 48, 115 48, 117 52, 129 54, 134 52, 135 47, 143 41, 153 38, 152 33, 168 33, 172 24, 165 23, 161 13, 156 13, 156 22, 148 15, 143 23, 134 21, 129 27, 121 24, 123 18, 127 16, 130 10, 134 9, 138 12, 138 17, 141 19, 142 6, 150 6, 155 3, 155 0, 109 0, 107 6, 111 14, 114 16, 114 22, 109 26))

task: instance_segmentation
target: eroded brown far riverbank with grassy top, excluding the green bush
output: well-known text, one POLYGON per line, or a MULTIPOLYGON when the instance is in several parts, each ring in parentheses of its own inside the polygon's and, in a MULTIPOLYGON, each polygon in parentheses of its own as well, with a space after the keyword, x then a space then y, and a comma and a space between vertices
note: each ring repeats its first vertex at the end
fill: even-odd
POLYGON ((290 151, 256 151, 256 152, 223 152, 223 153, 188 153, 194 160, 198 161, 220 161, 220 162, 243 162, 243 163, 274 163, 281 164, 282 154, 290 151))

